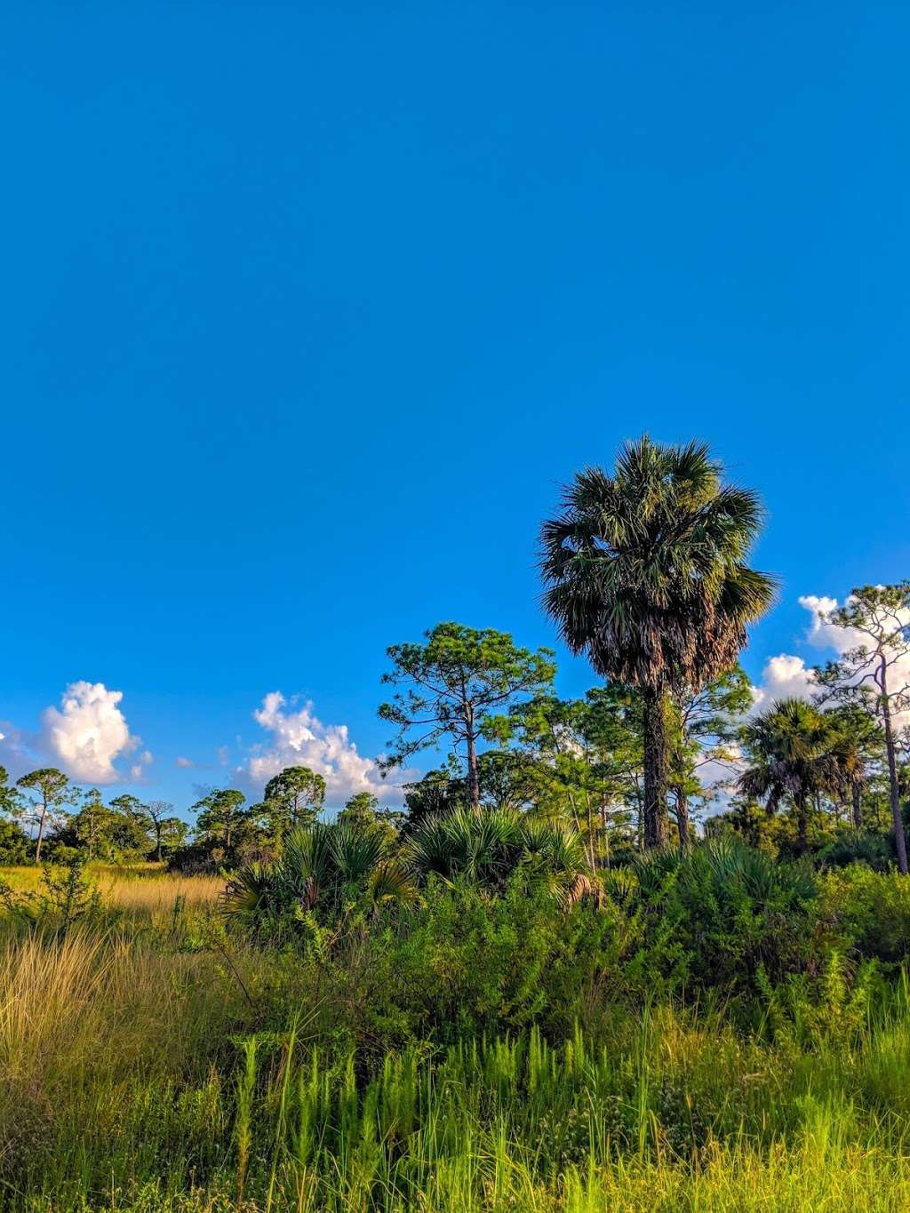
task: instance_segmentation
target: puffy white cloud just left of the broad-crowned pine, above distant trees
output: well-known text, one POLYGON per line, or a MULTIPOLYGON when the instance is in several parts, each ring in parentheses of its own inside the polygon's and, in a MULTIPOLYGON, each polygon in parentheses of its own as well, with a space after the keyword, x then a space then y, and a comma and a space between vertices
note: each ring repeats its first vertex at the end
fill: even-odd
POLYGON ((238 768, 239 779, 262 786, 284 767, 309 767, 325 779, 325 801, 343 804, 356 792, 372 792, 388 799, 399 797, 394 782, 383 780, 371 758, 365 758, 348 736, 346 724, 323 724, 312 704, 295 710, 280 691, 272 691, 254 713, 269 734, 238 768))

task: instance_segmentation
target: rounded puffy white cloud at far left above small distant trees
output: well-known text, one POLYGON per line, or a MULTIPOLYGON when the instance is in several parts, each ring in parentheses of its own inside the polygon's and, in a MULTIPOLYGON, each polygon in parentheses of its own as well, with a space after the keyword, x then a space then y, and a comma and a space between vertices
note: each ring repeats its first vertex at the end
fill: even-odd
MULTIPOLYGON (((41 714, 42 748, 59 762, 73 779, 83 784, 113 784, 123 779, 114 762, 141 745, 132 736, 120 710, 121 690, 108 690, 104 683, 70 683, 61 699, 59 710, 47 707, 41 714)), ((131 770, 142 774, 142 763, 150 762, 146 751, 131 770)))

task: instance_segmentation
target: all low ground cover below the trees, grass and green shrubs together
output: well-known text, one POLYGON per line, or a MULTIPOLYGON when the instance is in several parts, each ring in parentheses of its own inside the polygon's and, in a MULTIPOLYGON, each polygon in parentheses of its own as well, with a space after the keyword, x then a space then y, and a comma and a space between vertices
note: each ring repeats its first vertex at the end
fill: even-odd
POLYGON ((415 896, 263 918, 207 877, 83 872, 68 928, 7 915, 4 1207, 910 1198, 899 875, 726 842, 574 901, 521 864, 495 888, 413 871, 415 896))

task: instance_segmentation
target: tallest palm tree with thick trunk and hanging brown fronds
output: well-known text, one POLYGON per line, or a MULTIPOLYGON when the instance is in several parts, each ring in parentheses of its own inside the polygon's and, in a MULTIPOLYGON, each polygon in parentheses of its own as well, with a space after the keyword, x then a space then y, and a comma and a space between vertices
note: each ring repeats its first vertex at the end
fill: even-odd
POLYGON ((707 446, 627 443, 541 528, 544 603, 595 670, 644 706, 644 844, 667 842, 669 705, 732 668, 774 582, 746 564, 762 508, 722 484, 707 446))

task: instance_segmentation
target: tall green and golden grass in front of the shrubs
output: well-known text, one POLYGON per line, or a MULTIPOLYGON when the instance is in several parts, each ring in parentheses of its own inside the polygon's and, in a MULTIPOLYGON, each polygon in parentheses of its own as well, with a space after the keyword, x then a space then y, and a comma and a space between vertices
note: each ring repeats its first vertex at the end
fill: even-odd
MULTIPOLYGON (((5 872, 23 889, 38 875, 5 872)), ((411 990, 372 1018, 354 1004, 356 990, 379 1000, 374 983, 394 984, 389 950, 410 981, 404 952, 423 944, 400 913, 302 953, 226 928, 218 878, 144 865, 92 879, 99 902, 63 933, 2 923, 4 1208, 910 1205, 900 970, 858 980, 835 950, 815 993, 768 993, 750 1024, 722 998, 625 998, 604 974, 575 986, 563 975, 570 1024, 511 987, 504 956, 524 944, 488 921, 463 955, 450 940, 445 951, 467 972, 484 949, 501 967, 496 990, 422 955, 440 989, 421 993, 436 1029, 417 1030, 411 990), (518 1013, 521 997, 533 1013, 518 1013), (440 1000, 456 1018, 463 1000, 448 1038, 440 1000)), ((437 934, 459 917, 453 895, 422 911, 437 934)), ((633 957, 622 963, 631 973, 633 957)))

